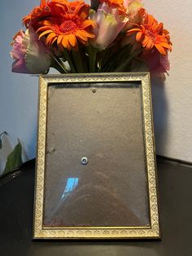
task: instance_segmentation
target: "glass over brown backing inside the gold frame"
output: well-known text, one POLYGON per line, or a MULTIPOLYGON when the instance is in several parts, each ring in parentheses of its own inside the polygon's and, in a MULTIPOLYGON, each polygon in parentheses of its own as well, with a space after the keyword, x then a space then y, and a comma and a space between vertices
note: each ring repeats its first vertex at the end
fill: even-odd
POLYGON ((141 85, 48 90, 43 226, 149 226, 141 85))

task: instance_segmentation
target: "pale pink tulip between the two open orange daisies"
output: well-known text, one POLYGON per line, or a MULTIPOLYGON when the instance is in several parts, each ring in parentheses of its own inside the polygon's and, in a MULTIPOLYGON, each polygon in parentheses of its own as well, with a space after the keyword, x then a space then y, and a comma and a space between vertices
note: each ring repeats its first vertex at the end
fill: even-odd
POLYGON ((126 17, 119 15, 117 8, 108 7, 105 2, 99 5, 97 12, 90 13, 90 19, 97 24, 94 29, 96 38, 92 44, 100 51, 105 50, 116 39, 128 21, 126 17))

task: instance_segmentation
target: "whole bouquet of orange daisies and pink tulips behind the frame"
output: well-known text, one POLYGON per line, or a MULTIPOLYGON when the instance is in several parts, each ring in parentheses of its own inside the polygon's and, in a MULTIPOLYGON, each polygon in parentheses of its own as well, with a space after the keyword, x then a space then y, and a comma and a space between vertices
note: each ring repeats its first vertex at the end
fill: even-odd
POLYGON ((11 56, 16 73, 166 73, 172 42, 142 0, 41 0, 24 16, 11 56))

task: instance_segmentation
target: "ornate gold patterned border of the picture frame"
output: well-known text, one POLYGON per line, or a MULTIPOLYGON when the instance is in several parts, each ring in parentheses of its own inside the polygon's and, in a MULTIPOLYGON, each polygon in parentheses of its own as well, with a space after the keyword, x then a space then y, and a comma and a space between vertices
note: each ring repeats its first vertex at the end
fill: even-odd
POLYGON ((44 75, 39 77, 39 117, 37 139, 37 172, 34 199, 34 239, 138 239, 160 238, 157 201, 154 128, 151 109, 151 83, 149 73, 77 73, 44 75), (43 227, 44 171, 46 158, 47 89, 51 84, 80 82, 141 82, 146 167, 150 201, 149 227, 43 227))

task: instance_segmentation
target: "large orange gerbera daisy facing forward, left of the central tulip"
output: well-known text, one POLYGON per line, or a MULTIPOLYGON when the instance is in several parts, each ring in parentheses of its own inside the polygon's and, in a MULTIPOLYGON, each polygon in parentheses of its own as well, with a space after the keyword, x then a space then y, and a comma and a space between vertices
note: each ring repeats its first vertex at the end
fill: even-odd
POLYGON ((78 49, 77 41, 87 44, 94 38, 91 30, 94 28, 93 20, 83 20, 79 15, 66 14, 58 19, 46 20, 44 25, 37 30, 41 32, 39 38, 46 36, 45 42, 49 47, 56 43, 61 49, 78 49))

